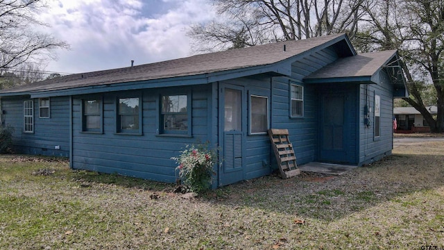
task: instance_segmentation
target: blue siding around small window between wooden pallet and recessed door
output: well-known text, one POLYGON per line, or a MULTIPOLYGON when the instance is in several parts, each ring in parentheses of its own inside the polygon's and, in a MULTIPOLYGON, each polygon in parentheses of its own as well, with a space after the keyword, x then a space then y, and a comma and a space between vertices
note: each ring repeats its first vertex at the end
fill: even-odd
MULTIPOLYGON (((287 128, 298 165, 318 158, 318 86, 302 83, 302 79, 337 60, 332 48, 316 51, 292 64, 291 78, 274 77, 271 90, 271 128, 287 128), (304 115, 290 117, 289 88, 295 83, 304 88, 304 115)), ((275 163, 274 155, 272 158, 275 163)))

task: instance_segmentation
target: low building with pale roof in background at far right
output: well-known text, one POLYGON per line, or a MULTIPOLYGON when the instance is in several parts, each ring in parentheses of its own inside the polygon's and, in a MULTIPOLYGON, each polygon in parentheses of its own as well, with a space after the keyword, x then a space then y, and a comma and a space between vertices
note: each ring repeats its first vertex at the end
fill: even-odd
MULTIPOLYGON (((436 106, 428 106, 427 110, 432 115, 438 113, 436 106)), ((422 117, 421 113, 413 107, 393 108, 393 115, 395 115, 398 126, 395 133, 428 133, 430 127, 422 117)))

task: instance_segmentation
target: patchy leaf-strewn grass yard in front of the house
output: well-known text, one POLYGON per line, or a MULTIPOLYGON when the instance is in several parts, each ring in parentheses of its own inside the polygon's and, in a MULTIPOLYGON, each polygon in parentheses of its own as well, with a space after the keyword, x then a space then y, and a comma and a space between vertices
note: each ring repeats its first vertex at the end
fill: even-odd
POLYGON ((443 249, 443 148, 408 144, 342 176, 265 176, 195 199, 0 156, 0 249, 443 249))

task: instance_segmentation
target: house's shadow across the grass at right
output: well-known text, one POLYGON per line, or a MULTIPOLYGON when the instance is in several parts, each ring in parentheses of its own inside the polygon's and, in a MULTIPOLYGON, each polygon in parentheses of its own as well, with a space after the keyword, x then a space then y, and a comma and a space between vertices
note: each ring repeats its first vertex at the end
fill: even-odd
POLYGON ((341 176, 264 176, 214 190, 203 199, 234 207, 332 221, 444 186, 444 156, 395 154, 341 176))

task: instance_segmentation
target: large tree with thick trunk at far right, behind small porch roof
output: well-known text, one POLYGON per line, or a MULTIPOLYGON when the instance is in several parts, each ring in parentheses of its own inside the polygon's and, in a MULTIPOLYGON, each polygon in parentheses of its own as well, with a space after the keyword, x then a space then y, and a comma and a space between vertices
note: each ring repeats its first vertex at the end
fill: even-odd
POLYGON ((432 131, 443 132, 444 0, 366 0, 361 8, 362 31, 354 44, 360 51, 398 49, 410 92, 404 101, 420 111, 432 131), (435 103, 436 119, 426 108, 435 103))

